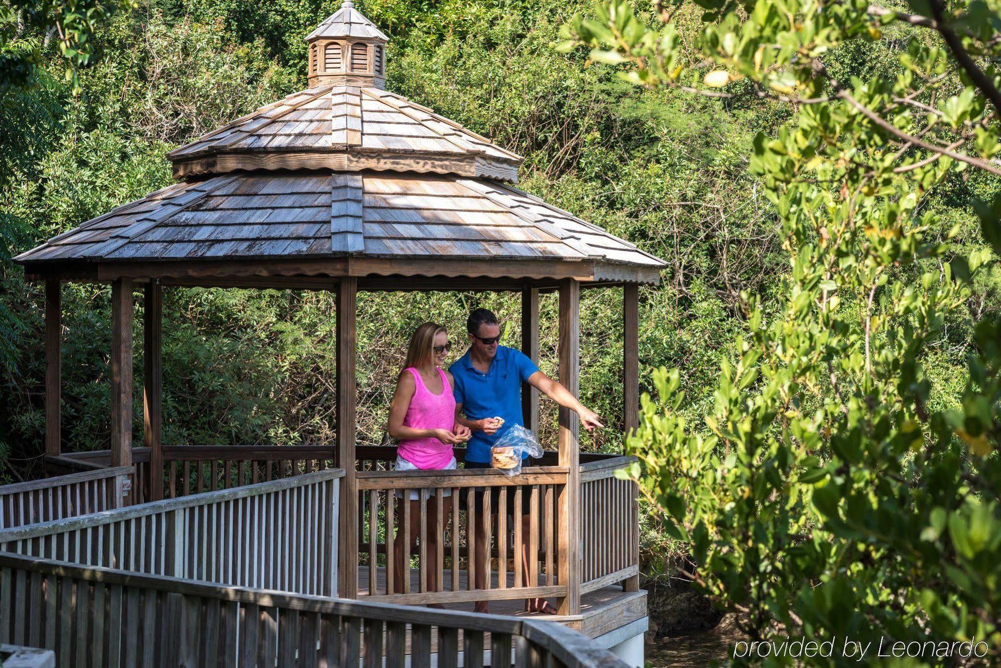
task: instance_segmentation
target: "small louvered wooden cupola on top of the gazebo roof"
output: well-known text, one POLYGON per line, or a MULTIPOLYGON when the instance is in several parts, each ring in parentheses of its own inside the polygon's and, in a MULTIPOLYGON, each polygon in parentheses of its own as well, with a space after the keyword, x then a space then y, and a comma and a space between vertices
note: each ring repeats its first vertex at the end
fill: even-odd
POLYGON ((344 0, 306 36, 309 87, 350 85, 385 88, 385 43, 381 30, 344 0))

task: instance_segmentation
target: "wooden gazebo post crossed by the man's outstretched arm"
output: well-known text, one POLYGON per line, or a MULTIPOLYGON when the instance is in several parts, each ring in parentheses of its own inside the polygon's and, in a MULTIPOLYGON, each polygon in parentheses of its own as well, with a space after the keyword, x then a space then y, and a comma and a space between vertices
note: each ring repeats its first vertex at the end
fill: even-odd
MULTIPOLYGON (((577 397, 581 367, 581 283, 560 281, 560 383, 577 397)), ((560 466, 567 467, 567 486, 560 494, 560 584, 567 596, 561 615, 581 613, 581 452, 580 419, 560 409, 560 466)))

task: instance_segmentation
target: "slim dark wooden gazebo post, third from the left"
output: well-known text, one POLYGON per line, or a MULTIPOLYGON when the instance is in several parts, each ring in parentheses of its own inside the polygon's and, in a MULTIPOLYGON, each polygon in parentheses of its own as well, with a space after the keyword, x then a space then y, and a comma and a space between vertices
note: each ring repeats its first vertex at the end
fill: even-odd
POLYGON ((149 448, 149 500, 163 499, 163 442, 161 439, 161 353, 163 350, 163 293, 158 281, 143 289, 143 443, 149 448))

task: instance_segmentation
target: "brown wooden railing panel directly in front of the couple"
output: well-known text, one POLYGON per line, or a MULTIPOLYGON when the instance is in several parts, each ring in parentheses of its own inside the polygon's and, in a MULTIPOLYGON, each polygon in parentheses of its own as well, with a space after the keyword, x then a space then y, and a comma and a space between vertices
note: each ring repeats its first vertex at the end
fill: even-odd
POLYGON ((560 467, 528 468, 515 478, 488 470, 359 472, 359 592, 380 601, 422 604, 566 595, 566 584, 559 580, 557 524, 566 484, 567 470, 560 467), (496 490, 495 500, 487 490, 496 490), (418 495, 416 515, 409 502, 400 503, 411 491, 418 495), (512 515, 496 513, 491 504, 512 515), (527 530, 523 517, 530 518, 527 530), (411 526, 417 527, 414 545, 405 539, 411 526), (429 536, 438 537, 436 558, 429 536), (395 550, 402 552, 398 565, 395 550), (470 558, 475 554, 489 558, 470 558), (413 568, 411 557, 417 557, 413 568), (477 574, 480 568, 483 573, 477 574))

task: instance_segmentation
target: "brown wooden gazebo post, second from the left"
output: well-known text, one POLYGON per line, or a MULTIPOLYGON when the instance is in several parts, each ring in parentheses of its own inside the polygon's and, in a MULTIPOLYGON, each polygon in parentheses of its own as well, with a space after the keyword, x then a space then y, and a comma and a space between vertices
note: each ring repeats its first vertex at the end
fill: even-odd
POLYGON ((132 466, 132 281, 111 283, 111 466, 132 466))

